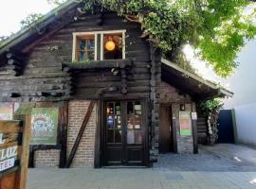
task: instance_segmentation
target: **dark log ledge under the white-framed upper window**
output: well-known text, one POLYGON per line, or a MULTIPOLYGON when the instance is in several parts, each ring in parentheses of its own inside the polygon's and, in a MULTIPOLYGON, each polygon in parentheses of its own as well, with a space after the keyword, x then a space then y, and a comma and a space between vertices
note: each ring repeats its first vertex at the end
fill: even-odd
POLYGON ((70 70, 89 70, 102 68, 121 68, 132 66, 132 60, 92 60, 92 61, 73 61, 64 63, 64 71, 70 70))

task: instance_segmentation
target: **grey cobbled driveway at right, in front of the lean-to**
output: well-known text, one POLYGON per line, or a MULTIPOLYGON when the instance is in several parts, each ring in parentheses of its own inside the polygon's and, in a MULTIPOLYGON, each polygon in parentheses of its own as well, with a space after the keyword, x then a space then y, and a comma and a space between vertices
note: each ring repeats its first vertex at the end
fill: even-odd
POLYGON ((199 146, 198 154, 160 154, 155 169, 171 171, 256 172, 256 149, 221 144, 199 146))

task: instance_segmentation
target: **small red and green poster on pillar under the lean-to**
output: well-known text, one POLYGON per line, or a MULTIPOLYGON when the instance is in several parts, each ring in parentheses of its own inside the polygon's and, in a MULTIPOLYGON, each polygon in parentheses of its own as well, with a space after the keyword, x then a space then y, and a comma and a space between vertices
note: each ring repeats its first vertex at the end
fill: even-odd
POLYGON ((180 136, 192 136, 192 117, 191 112, 179 112, 180 136))

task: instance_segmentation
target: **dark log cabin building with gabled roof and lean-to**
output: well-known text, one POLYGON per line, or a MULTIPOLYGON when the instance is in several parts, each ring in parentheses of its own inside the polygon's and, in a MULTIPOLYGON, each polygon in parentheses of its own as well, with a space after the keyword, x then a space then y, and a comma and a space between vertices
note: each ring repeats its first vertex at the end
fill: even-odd
POLYGON ((196 103, 231 93, 140 36, 115 12, 68 1, 0 46, 1 107, 58 110, 56 140, 31 142, 30 166, 151 166, 158 153, 197 153, 196 103))

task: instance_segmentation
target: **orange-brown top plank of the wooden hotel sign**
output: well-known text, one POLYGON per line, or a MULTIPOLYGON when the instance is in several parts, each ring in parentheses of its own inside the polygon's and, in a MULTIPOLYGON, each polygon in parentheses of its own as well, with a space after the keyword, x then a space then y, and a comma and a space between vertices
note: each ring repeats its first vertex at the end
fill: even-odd
POLYGON ((0 121, 1 133, 9 132, 21 132, 21 122, 20 121, 0 121))

